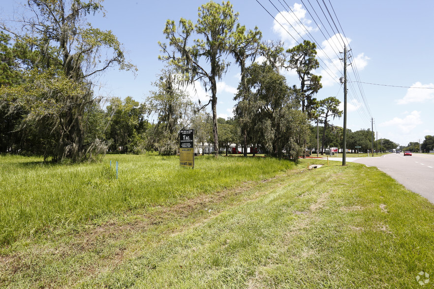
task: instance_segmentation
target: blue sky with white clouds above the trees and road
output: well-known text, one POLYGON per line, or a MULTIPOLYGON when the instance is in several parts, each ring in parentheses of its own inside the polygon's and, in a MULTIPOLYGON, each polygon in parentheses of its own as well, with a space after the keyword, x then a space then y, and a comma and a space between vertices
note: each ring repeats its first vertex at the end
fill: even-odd
MULTIPOLYGON (((297 44, 292 37, 298 42, 303 41, 288 24, 288 21, 295 24, 293 21, 296 18, 300 19, 317 41, 318 55, 324 60, 320 62, 322 67, 315 71, 316 74, 323 76, 323 88, 316 97, 322 99, 336 96, 343 102, 343 87, 339 84, 339 78, 343 75, 343 65, 336 54, 343 52, 341 36, 342 38, 344 36, 335 35, 334 32, 337 31, 332 31, 317 2, 271 0, 278 11, 269 0, 258 1, 231 1, 234 10, 240 13, 239 23, 248 29, 257 26, 263 33, 263 40, 283 40, 286 48, 289 48, 297 44), (281 29, 258 1, 292 36, 281 29), (285 5, 286 10, 281 4, 285 5), (297 17, 294 17, 286 4, 297 17), (315 13, 319 15, 323 24, 316 18, 315 13), (332 39, 329 39, 327 32, 332 39), (332 49, 333 43, 336 45, 334 49, 332 49), (330 63, 330 60, 333 63, 330 63), (323 68, 328 70, 328 73, 324 72, 323 68)), ((15 3, 9 0, 0 0, 0 2, 3 16, 10 13, 15 3)), ((134 76, 130 72, 117 69, 108 71, 99 78, 101 86, 97 93, 121 98, 129 95, 143 102, 149 91, 154 89, 151 84, 164 66, 164 63, 158 60, 160 52, 157 42, 166 41, 162 33, 166 20, 177 22, 183 17, 195 22, 197 8, 205 2, 204 0, 106 0, 103 3, 106 17, 96 15, 90 16, 88 20, 94 27, 110 29, 117 35, 120 42, 124 44, 128 58, 137 65, 138 72, 134 76)), ((327 13, 322 0, 318 2, 327 13)), ((387 138, 400 145, 419 142, 419 139, 423 140, 425 135, 434 135, 434 89, 415 88, 434 88, 432 31, 434 1, 324 0, 324 2, 329 9, 333 7, 336 12, 337 18, 333 10, 330 10, 335 22, 339 20, 340 25, 336 23, 339 32, 343 31, 347 37, 344 41, 349 42, 352 49, 352 58, 349 62, 353 65, 348 67, 349 80, 389 85, 352 82, 348 86, 348 128, 353 131, 371 128, 371 117, 373 117, 374 131, 378 132, 378 138, 387 138), (354 66, 357 67, 357 77, 352 71, 354 66)), ((333 23, 331 24, 333 26, 333 23)), ((305 35, 305 29, 297 28, 297 30, 304 39, 310 40, 305 35)), ((287 77, 289 85, 299 86, 299 80, 293 72, 282 73, 287 77)), ((232 99, 238 82, 239 68, 234 64, 217 90, 219 116, 231 116, 235 105, 232 99)), ((196 90, 197 93, 191 92, 192 99, 207 99, 203 89, 196 87, 196 90)), ((343 117, 333 122, 335 125, 343 126, 343 117)))

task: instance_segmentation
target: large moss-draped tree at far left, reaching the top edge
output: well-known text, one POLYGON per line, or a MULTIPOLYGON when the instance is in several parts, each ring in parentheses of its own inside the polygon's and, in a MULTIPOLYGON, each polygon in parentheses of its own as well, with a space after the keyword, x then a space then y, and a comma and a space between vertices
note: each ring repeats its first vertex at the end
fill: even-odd
POLYGON ((53 161, 89 159, 105 146, 99 139, 85 143, 85 111, 98 97, 94 77, 109 67, 135 70, 121 43, 110 30, 94 28, 87 16, 103 12, 102 0, 28 0, 27 11, 17 23, 1 29, 37 51, 36 63, 24 70, 23 85, 2 89, 8 101, 16 101, 30 113, 21 129, 33 127, 55 143, 44 156, 53 161))

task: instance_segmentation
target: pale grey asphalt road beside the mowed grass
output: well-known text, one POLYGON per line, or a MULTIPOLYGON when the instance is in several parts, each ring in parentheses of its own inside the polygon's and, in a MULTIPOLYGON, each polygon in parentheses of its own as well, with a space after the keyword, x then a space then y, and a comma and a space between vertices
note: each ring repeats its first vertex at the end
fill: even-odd
POLYGON ((382 157, 358 158, 355 163, 377 167, 387 173, 407 189, 434 203, 434 155, 413 153, 404 156, 401 153, 390 153, 382 157))

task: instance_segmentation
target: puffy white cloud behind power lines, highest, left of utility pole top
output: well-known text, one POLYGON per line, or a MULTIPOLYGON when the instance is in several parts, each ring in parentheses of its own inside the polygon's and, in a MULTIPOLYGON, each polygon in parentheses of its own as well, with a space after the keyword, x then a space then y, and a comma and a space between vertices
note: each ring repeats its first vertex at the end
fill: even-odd
POLYGON ((297 44, 297 41, 300 42, 301 37, 307 34, 307 30, 311 32, 315 28, 310 26, 312 21, 306 18, 307 11, 303 8, 302 4, 294 3, 291 10, 292 12, 282 11, 276 15, 273 30, 280 35, 282 40, 289 42, 290 46, 294 46, 297 44))

